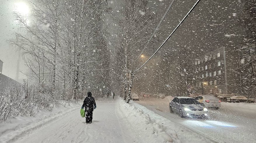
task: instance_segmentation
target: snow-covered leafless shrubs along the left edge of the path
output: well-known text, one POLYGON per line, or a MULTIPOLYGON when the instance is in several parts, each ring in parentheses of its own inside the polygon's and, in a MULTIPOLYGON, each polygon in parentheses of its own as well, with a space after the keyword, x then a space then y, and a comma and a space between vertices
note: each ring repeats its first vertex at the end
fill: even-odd
POLYGON ((55 90, 48 92, 34 85, 12 85, 0 93, 0 119, 7 120, 16 115, 36 115, 38 110, 66 104, 72 97, 65 92, 55 90))

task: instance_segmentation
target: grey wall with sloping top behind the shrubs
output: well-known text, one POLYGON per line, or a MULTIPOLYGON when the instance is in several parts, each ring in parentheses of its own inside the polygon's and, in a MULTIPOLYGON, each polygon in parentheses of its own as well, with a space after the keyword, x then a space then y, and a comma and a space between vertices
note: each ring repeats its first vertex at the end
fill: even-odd
POLYGON ((11 79, 10 77, 7 77, 6 75, 0 74, 0 93, 4 92, 4 90, 13 85, 13 84, 20 84, 19 82, 15 81, 14 79, 11 79))

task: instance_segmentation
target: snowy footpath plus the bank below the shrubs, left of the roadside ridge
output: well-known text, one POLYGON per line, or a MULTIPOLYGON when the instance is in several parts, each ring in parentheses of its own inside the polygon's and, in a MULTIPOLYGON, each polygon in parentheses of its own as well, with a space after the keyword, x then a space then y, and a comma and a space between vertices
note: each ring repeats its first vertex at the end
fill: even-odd
MULTIPOLYGON (((130 143, 143 142, 132 131, 129 123, 123 120, 117 109, 116 101, 96 101, 97 108, 93 112, 92 124, 86 124, 85 118, 80 116, 81 104, 67 108, 58 108, 51 113, 51 117, 40 120, 39 114, 33 117, 22 117, 16 127, 7 130, 10 123, 1 123, 0 142, 88 142, 88 143, 130 143), (31 119, 32 118, 32 119, 31 119), (24 123, 24 120, 31 122, 24 123), (18 125, 18 126, 17 126, 18 125), (5 127, 3 130, 2 127, 5 127)), ((44 113, 45 115, 49 113, 44 113)))

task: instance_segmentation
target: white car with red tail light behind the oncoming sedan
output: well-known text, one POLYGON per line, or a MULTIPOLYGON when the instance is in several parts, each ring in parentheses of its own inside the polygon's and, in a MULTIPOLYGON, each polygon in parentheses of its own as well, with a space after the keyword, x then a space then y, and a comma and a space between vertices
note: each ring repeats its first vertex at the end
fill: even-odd
POLYGON ((206 107, 216 108, 216 109, 220 108, 221 101, 214 96, 203 95, 203 96, 198 96, 195 99, 196 101, 203 103, 206 107))

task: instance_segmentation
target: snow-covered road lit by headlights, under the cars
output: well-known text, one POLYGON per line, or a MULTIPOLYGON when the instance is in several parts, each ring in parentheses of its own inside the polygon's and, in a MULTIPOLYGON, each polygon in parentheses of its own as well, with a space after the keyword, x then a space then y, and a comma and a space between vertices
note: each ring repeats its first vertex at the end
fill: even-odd
MULTIPOLYGON (((169 102, 172 97, 165 99, 142 99, 137 103, 147 109, 167 118, 176 125, 184 126, 210 142, 256 142, 256 104, 248 103, 221 103, 220 110, 209 110, 210 118, 207 120, 184 119, 170 113, 169 102)), ((138 106, 137 103, 132 103, 138 106)), ((153 117, 151 117, 153 118, 153 117)))

